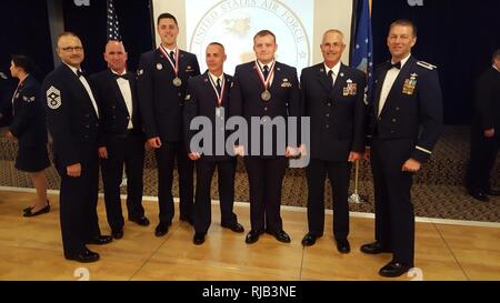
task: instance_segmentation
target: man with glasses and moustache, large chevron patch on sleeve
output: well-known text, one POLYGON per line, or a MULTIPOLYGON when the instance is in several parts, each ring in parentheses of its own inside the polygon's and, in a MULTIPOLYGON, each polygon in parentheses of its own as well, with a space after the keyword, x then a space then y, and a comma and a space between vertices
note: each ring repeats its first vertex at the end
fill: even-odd
POLYGON ((99 110, 81 71, 84 58, 80 39, 71 32, 58 38, 62 63, 42 84, 47 122, 53 139, 54 163, 61 176, 60 216, 64 257, 94 262, 99 254, 87 244, 107 244, 97 215, 99 182, 99 110))

